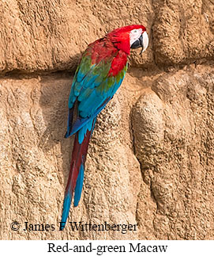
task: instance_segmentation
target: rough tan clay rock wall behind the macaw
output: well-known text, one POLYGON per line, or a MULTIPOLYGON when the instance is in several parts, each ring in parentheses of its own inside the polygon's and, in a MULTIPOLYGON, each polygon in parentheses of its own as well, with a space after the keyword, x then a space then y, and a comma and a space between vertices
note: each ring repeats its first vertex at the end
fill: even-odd
POLYGON ((1 1, 1 239, 214 239, 213 13, 210 0, 1 1), (137 231, 58 231, 73 71, 88 43, 136 23, 148 50, 99 114, 69 221, 137 231))

